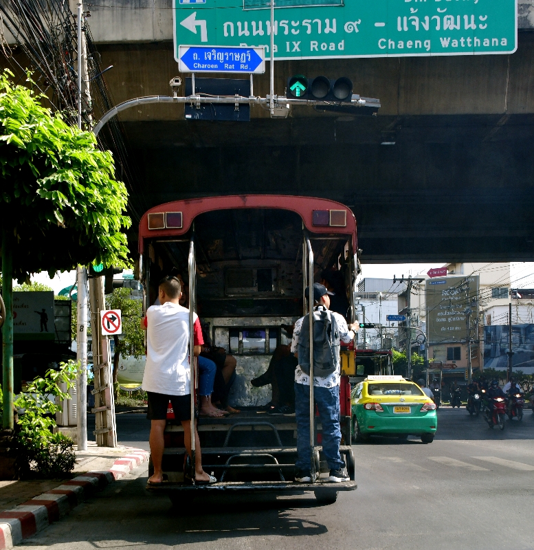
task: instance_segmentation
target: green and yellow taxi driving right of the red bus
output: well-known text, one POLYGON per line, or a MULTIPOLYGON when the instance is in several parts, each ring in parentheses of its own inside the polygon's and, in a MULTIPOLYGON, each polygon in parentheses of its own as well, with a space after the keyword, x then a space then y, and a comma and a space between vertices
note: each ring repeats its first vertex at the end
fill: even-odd
POLYGON ((368 376, 351 391, 353 441, 370 435, 432 443, 438 427, 436 404, 421 388, 401 376, 368 376))

